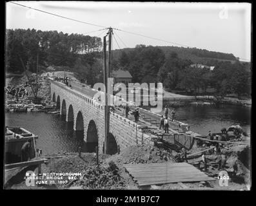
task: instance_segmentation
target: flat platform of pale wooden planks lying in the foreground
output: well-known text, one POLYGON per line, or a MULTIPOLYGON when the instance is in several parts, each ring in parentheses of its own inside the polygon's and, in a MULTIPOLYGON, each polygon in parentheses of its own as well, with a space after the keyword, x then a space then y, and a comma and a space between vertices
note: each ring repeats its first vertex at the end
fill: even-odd
POLYGON ((201 182, 215 180, 185 162, 124 164, 124 168, 139 186, 177 182, 201 182))

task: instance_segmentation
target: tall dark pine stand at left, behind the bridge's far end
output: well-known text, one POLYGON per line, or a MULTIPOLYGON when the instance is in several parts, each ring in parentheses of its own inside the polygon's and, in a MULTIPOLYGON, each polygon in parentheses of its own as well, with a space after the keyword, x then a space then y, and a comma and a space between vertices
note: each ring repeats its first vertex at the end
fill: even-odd
MULTIPOLYGON (((102 49, 99 37, 77 33, 41 30, 6 30, 6 71, 22 72, 21 61, 28 71, 35 72, 37 55, 40 66, 70 66, 81 61, 94 63, 95 55, 102 49), (90 55, 88 55, 90 54, 90 55)), ((97 56, 97 55, 96 55, 97 56)))

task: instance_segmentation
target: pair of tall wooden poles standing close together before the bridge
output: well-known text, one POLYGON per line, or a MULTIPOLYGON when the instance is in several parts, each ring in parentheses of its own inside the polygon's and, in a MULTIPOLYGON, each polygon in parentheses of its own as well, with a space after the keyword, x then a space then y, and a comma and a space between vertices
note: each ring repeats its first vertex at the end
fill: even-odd
POLYGON ((111 50, 112 50, 112 28, 108 30, 108 66, 106 64, 106 36, 103 37, 103 58, 104 58, 104 86, 105 86, 105 140, 104 140, 104 153, 107 151, 107 138, 110 127, 110 107, 108 106, 108 78, 111 71, 111 50))

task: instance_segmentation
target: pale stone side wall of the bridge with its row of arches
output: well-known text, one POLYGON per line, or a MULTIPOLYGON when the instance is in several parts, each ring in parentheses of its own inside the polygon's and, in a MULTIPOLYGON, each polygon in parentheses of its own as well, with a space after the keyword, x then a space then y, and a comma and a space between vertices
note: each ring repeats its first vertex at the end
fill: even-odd
MULTIPOLYGON (((57 102, 61 116, 75 131, 83 133, 84 142, 104 149, 104 106, 94 102, 90 95, 68 88, 62 82, 51 82, 52 101, 57 102)), ((150 143, 151 136, 143 133, 141 126, 110 111, 110 133, 106 138, 107 154, 117 153, 130 145, 150 143)))

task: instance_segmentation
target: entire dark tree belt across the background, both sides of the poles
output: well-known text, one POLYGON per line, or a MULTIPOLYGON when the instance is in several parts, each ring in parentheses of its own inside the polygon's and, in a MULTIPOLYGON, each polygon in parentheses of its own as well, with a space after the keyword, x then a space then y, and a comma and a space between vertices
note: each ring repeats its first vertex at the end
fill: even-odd
MULTIPOLYGON (((82 82, 93 85, 103 82, 102 46, 101 38, 89 35, 6 30, 6 71, 23 72, 23 62, 26 70, 34 73, 38 56, 39 66, 70 68, 82 82)), ((250 94, 251 88, 249 62, 239 62, 232 54, 197 48, 139 44, 135 48, 113 51, 112 68, 130 71, 133 82, 162 82, 166 89, 193 91, 195 95, 199 89, 206 91, 208 87, 219 95, 250 94), (186 57, 186 54, 189 55, 186 57), (215 66, 214 70, 192 68, 190 65, 196 63, 194 57, 204 58, 204 64, 215 66)))

